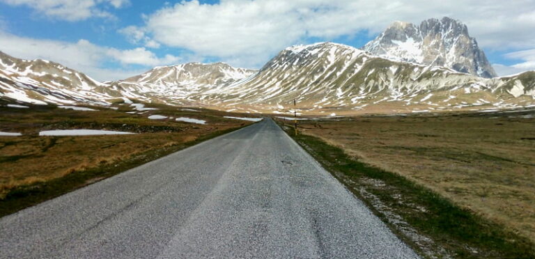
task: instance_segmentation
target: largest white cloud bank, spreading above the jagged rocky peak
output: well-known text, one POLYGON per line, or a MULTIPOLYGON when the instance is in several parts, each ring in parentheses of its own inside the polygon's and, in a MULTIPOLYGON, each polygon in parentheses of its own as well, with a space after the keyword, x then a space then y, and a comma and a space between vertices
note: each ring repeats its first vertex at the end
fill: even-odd
POLYGON ((284 47, 310 38, 331 40, 362 31, 374 35, 396 20, 419 23, 444 16, 465 22, 482 47, 532 48, 534 10, 535 1, 526 0, 193 0, 165 5, 123 33, 146 47, 152 40, 258 66, 284 47))

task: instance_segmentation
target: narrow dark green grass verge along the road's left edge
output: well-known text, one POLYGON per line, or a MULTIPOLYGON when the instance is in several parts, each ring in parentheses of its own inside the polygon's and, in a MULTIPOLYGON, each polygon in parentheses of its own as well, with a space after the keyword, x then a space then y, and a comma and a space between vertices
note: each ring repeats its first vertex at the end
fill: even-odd
POLYGON ((99 180, 109 178, 113 175, 122 173, 137 166, 141 166, 142 164, 146 164, 173 152, 177 152, 203 141, 207 141, 208 139, 215 138, 216 136, 221 136, 235 130, 240 130, 242 127, 212 132, 210 134, 200 136, 195 141, 180 143, 176 146, 169 146, 157 150, 141 152, 140 154, 130 157, 130 159, 125 159, 114 164, 104 164, 95 168, 88 168, 84 171, 75 171, 65 175, 62 178, 56 178, 47 182, 36 182, 32 185, 17 187, 10 190, 6 197, 0 200, 0 217, 15 213, 26 207, 42 203, 43 201, 56 198, 70 191, 74 191, 75 189, 90 185, 93 182, 98 182, 99 180))

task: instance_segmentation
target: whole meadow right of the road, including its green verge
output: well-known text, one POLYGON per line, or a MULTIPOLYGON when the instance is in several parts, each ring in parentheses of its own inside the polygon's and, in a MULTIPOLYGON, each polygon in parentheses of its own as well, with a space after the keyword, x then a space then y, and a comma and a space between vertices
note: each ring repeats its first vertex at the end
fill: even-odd
POLYGON ((535 255, 533 109, 274 119, 426 257, 535 255))

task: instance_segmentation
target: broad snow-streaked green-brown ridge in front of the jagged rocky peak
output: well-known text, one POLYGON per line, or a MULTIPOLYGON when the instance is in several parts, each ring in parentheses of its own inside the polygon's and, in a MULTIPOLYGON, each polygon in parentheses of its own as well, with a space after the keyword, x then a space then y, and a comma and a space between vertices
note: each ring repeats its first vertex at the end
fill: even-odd
POLYGON ((505 108, 535 104, 528 79, 534 74, 483 79, 323 42, 288 47, 257 74, 201 98, 215 107, 280 113, 293 109, 294 99, 304 113, 505 108))

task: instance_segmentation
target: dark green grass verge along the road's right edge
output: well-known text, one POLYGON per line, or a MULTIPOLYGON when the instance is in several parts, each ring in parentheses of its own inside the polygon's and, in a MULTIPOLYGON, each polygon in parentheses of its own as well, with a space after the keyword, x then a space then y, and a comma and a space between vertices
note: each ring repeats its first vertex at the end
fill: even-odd
POLYGON ((286 132, 421 256, 535 258, 535 246, 526 238, 454 205, 431 189, 396 173, 358 162, 346 155, 341 148, 331 146, 317 137, 304 134, 295 136, 293 127, 286 127, 286 132), (385 185, 371 185, 370 180, 385 185), (359 191, 362 188, 378 198, 382 205, 386 205, 389 212, 401 216, 419 235, 431 238, 436 247, 423 248, 413 238, 404 235, 399 226, 389 221, 382 212, 383 208, 378 210, 369 196, 362 195, 359 191))

